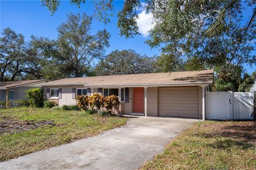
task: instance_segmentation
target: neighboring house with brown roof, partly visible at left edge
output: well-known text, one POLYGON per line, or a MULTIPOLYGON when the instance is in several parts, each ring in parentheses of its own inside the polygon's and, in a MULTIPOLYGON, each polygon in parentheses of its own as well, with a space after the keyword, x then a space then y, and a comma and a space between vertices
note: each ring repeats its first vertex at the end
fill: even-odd
POLYGON ((35 88, 36 84, 47 82, 46 80, 25 80, 0 82, 0 100, 23 99, 26 90, 35 88))

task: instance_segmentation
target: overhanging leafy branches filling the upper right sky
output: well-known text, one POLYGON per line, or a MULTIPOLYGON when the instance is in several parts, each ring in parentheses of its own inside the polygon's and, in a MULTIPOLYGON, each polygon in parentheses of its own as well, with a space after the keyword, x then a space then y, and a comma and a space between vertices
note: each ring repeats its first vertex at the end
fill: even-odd
MULTIPOLYGON (((50 1, 53 4, 49 5, 49 1, 42 2, 54 12, 60 1, 50 1)), ((85 1, 71 0, 70 3, 79 6, 85 1)), ((105 3, 111 4, 112 1, 105 3)), ((102 8, 97 1, 94 5, 95 13, 113 10, 102 8)), ((196 59, 207 68, 221 66, 225 69, 227 64, 256 64, 253 43, 256 35, 255 1, 127 0, 118 12, 117 25, 122 36, 128 38, 139 34, 137 19, 140 12, 138 8, 141 7, 153 15, 155 26, 146 42, 150 47, 162 49, 163 59, 159 61, 164 71, 177 70, 177 62, 187 60, 186 67, 191 70, 196 66, 195 70, 199 69, 202 65, 195 65, 196 59), (249 11, 251 14, 248 15, 249 11)))

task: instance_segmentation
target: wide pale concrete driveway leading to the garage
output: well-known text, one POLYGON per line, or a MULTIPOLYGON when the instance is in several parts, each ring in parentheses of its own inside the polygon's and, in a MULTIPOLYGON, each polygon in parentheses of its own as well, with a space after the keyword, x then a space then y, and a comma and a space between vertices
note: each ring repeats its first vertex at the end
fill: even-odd
POLYGON ((136 169, 196 121, 129 118, 121 128, 2 162, 0 169, 136 169))

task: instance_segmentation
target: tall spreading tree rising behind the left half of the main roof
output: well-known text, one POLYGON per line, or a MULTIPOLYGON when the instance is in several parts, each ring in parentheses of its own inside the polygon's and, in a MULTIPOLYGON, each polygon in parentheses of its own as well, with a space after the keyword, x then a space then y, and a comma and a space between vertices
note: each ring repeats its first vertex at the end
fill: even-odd
POLYGON ((105 29, 91 35, 92 17, 69 14, 58 27, 58 39, 32 37, 32 43, 43 61, 43 72, 49 79, 83 77, 89 74, 91 63, 101 58, 109 46, 105 29))

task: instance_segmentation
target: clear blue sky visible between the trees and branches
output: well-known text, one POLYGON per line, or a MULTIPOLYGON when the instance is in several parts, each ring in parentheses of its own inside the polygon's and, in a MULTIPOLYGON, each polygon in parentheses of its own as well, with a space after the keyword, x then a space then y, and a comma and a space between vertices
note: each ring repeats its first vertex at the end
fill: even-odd
MULTIPOLYGON (((31 35, 49 37, 56 39, 58 37, 57 27, 65 22, 68 13, 86 13, 87 15, 93 14, 93 4, 86 2, 80 8, 75 5, 70 5, 69 1, 62 1, 58 10, 52 16, 46 7, 40 1, 0 1, 1 5, 1 32, 4 28, 10 27, 17 33, 25 35, 26 40, 30 39, 31 35)), ((93 20, 92 33, 106 28, 110 32, 110 47, 107 48, 106 54, 113 50, 133 49, 137 53, 146 54, 148 56, 159 55, 160 50, 157 48, 151 49, 145 40, 147 39, 148 22, 142 20, 140 22, 140 31, 142 35, 135 36, 134 38, 126 39, 119 36, 119 29, 117 28, 117 11, 121 10, 123 1, 114 1, 115 13, 110 18, 111 22, 107 25, 102 22, 93 20), (146 30, 145 30, 146 29, 146 30)), ((141 18, 147 19, 148 15, 143 12, 141 18)), ((250 73, 255 71, 254 68, 246 66, 247 71, 250 73)))

